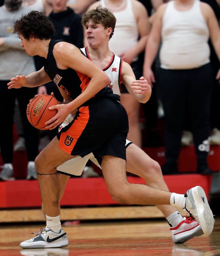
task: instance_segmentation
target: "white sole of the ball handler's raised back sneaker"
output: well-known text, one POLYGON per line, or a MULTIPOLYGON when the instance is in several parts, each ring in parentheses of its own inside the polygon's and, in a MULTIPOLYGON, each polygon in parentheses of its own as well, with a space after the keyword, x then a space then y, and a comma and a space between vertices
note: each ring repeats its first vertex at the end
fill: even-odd
POLYGON ((193 211, 194 218, 198 221, 205 235, 210 235, 214 227, 213 213, 208 204, 205 191, 202 187, 196 186, 187 191, 189 200, 194 201, 193 205, 196 213, 193 211), (192 200, 191 200, 192 199, 192 200))

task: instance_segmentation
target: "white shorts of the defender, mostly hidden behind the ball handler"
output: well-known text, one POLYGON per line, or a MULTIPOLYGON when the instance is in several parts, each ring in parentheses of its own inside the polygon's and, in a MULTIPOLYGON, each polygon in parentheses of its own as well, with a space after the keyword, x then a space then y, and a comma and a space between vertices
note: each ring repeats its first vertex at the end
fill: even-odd
MULTIPOLYGON (((63 127, 68 125, 72 121, 73 118, 74 118, 74 116, 72 114, 69 114, 69 116, 67 116, 65 121, 60 125, 58 130, 60 131, 63 127)), ((129 140, 126 139, 125 147, 127 147, 131 143, 132 142, 130 142, 129 140)), ((84 168, 89 160, 91 160, 96 166, 98 166, 101 169, 101 166, 98 163, 95 156, 93 155, 93 153, 90 153, 84 157, 77 156, 72 159, 69 159, 68 161, 57 166, 57 171, 67 174, 67 175, 80 176, 80 175, 82 175, 82 171, 84 170, 84 168)))

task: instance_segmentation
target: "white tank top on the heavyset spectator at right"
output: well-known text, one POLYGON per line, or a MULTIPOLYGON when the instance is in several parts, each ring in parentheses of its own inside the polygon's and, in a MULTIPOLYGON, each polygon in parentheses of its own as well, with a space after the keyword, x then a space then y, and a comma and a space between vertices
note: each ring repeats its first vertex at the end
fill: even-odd
POLYGON ((162 23, 162 68, 193 69, 210 62, 209 29, 199 0, 194 0, 193 7, 183 12, 176 10, 171 0, 162 23))

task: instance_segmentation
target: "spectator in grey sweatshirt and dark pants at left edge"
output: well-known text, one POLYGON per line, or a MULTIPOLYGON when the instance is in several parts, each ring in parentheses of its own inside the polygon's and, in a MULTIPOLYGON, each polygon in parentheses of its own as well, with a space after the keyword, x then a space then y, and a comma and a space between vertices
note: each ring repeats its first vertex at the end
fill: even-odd
POLYGON ((24 128, 25 144, 28 155, 27 179, 37 178, 34 159, 38 155, 38 130, 34 128, 26 117, 26 108, 29 99, 37 93, 37 88, 22 88, 22 90, 8 90, 7 83, 12 74, 17 70, 22 74, 35 71, 34 59, 29 57, 21 47, 21 40, 12 34, 16 19, 28 12, 22 6, 21 0, 5 0, 0 7, 0 148, 3 159, 3 170, 0 173, 1 180, 14 179, 13 170, 13 127, 15 100, 19 104, 21 121, 24 128), (4 109, 7 109, 5 113, 4 109))

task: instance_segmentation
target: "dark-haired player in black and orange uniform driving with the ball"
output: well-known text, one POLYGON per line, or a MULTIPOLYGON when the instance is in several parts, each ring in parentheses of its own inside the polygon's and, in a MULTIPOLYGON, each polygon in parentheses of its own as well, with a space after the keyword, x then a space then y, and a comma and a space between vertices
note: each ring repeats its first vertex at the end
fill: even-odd
MULTIPOLYGON (((111 17, 111 13, 109 15, 111 17)), ((110 36, 115 20, 106 16, 103 22, 106 22, 106 28, 101 36, 110 36)), ((89 61, 74 45, 52 40, 53 25, 40 12, 32 11, 18 19, 14 24, 14 33, 19 35, 21 46, 29 55, 40 55, 46 61, 40 71, 11 78, 9 89, 40 86, 50 80, 55 81, 66 104, 50 107, 58 110, 56 116, 46 122, 50 129, 78 109, 74 120, 62 128, 57 137, 35 159, 46 227, 36 237, 21 242, 20 246, 43 248, 69 244, 60 223, 60 183, 57 167, 73 157, 84 157, 89 153, 99 158, 108 191, 116 202, 139 205, 171 204, 186 209, 199 222, 204 234, 211 234, 213 214, 201 187, 193 187, 184 195, 127 181, 127 114, 118 102, 119 95, 113 94, 106 86, 110 85, 110 80, 105 72, 89 61), (73 100, 68 102, 71 98, 73 100)), ((124 82, 129 80, 128 76, 124 77, 124 82)), ((131 90, 140 94, 143 101, 149 99, 149 88, 145 79, 131 84, 131 90)))

